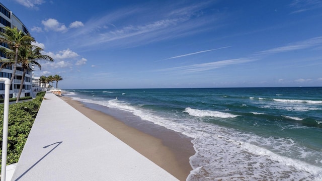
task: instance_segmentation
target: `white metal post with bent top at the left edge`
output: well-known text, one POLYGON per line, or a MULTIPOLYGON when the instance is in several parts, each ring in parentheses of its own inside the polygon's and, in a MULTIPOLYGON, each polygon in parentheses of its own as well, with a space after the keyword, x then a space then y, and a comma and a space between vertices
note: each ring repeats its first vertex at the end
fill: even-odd
POLYGON ((2 161, 1 161, 1 181, 6 181, 7 167, 7 147, 8 147, 8 118, 9 118, 9 97, 10 79, 0 77, 0 81, 5 82, 5 101, 4 101, 4 134, 2 139, 2 161))

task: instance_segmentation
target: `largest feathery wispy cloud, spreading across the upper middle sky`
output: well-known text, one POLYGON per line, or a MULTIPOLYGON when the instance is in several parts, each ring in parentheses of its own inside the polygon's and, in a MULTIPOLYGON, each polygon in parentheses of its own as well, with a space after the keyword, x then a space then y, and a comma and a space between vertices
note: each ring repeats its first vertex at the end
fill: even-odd
MULTIPOLYGON (((124 8, 109 12, 106 16, 92 18, 77 31, 70 31, 66 41, 74 41, 77 47, 129 47, 149 44, 167 39, 197 34, 206 29, 206 25, 215 24, 221 19, 219 14, 203 14, 203 9, 213 2, 176 5, 167 7, 138 7, 124 8), (151 11, 154 10, 154 11, 151 11), (142 17, 140 21, 137 18, 142 17), (79 44, 79 37, 87 39, 79 44)), ((154 5, 155 6, 155 5, 154 5)), ((212 29, 217 26, 211 26, 212 29)))

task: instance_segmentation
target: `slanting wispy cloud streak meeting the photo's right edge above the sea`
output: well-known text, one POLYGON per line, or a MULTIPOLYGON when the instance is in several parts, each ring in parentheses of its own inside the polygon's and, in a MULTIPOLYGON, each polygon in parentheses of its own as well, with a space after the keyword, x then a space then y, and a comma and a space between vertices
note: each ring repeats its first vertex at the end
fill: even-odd
POLYGON ((281 46, 281 47, 272 48, 269 50, 260 51, 260 52, 257 52, 256 54, 261 55, 261 54, 282 53, 282 52, 301 50, 301 49, 306 49, 310 47, 320 46, 321 44, 322 44, 322 37, 315 37, 301 42, 289 44, 286 46, 281 46))

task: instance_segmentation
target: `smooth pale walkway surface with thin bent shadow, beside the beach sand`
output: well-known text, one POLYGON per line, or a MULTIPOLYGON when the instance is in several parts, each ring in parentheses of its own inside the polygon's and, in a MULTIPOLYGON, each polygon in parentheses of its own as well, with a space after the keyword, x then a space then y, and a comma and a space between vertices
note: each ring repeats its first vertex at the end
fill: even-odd
POLYGON ((12 180, 178 180, 46 93, 12 180))

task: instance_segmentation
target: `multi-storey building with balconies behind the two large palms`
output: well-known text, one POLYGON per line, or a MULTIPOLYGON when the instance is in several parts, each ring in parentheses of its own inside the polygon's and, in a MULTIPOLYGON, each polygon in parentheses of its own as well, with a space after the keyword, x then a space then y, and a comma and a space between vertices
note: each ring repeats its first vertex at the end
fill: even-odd
MULTIPOLYGON (((28 29, 26 28, 26 26, 9 9, 7 9, 3 4, 0 3, 0 31, 4 32, 3 28, 6 26, 10 28, 17 27, 18 30, 22 30, 23 32, 28 34, 28 29)), ((8 48, 8 45, 4 43, 0 43, 0 46, 8 48)), ((6 58, 3 52, 0 52, 0 58, 6 58)), ((31 68, 31 65, 30 65, 30 68, 31 68)), ((13 69, 14 69, 14 66, 12 65, 11 67, 6 67, 0 70, 0 77, 11 78, 13 69)), ((10 88, 10 98, 18 95, 23 71, 24 69, 20 65, 17 65, 16 76, 10 88)), ((5 84, 0 83, 0 98, 4 97, 4 94, 5 94, 5 84)), ((27 96, 33 96, 31 70, 27 70, 20 97, 27 97, 27 96)))

